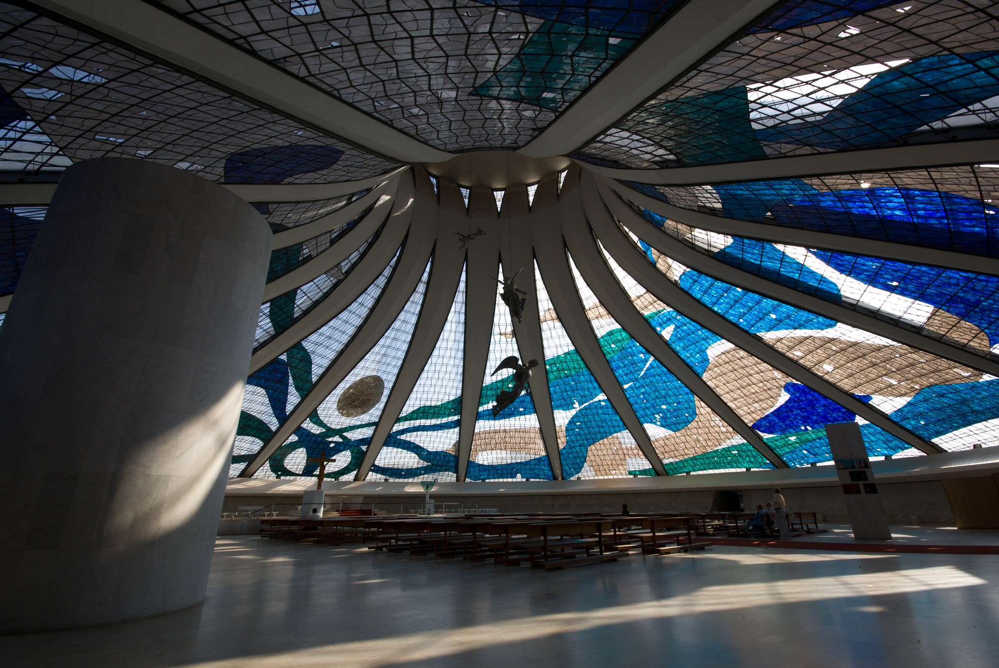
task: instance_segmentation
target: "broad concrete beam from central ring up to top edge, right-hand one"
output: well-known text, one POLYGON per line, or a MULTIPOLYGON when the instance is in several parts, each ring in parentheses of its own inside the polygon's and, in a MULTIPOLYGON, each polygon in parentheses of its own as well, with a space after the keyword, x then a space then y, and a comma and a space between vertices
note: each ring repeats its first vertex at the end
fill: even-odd
POLYGON ((689 0, 520 149, 567 156, 730 42, 782 0, 689 0))

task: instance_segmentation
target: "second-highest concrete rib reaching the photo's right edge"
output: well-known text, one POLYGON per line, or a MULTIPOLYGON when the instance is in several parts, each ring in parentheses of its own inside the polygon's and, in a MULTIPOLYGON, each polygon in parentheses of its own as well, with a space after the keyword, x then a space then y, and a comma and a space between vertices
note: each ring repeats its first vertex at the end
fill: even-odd
MULTIPOLYGON (((763 222, 726 218, 667 204, 664 201, 638 192, 612 178, 596 176, 596 179, 601 186, 609 187, 624 199, 638 204, 642 208, 647 208, 663 217, 682 222, 691 227, 699 227, 712 232, 718 232, 719 234, 745 236, 773 243, 790 243, 805 246, 806 248, 824 248, 826 250, 837 250, 857 255, 873 255, 875 257, 884 257, 902 262, 929 264, 932 266, 959 269, 961 271, 977 271, 979 273, 999 275, 999 259, 994 257, 969 255, 952 250, 939 250, 937 248, 913 246, 905 243, 863 239, 845 234, 817 232, 811 229, 798 229, 796 227, 784 227, 782 225, 769 225, 763 222)), ((606 196, 604 194, 604 197, 606 196)))

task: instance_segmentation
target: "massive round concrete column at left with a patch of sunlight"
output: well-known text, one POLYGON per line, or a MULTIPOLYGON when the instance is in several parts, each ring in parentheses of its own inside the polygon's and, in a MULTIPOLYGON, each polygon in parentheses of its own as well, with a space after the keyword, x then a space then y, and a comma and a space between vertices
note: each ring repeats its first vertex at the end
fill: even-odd
POLYGON ((0 328, 0 632, 204 598, 271 237, 181 169, 63 174, 0 328))

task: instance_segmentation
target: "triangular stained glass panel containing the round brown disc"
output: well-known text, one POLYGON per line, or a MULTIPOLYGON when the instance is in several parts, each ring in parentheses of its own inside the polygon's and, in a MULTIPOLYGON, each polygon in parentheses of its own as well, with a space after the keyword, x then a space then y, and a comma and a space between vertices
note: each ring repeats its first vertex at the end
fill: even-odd
POLYGON ((318 457, 337 458, 327 467, 329 478, 358 470, 409 349, 432 263, 427 263, 420 284, 385 335, 254 478, 315 476, 318 465, 308 460, 318 457))

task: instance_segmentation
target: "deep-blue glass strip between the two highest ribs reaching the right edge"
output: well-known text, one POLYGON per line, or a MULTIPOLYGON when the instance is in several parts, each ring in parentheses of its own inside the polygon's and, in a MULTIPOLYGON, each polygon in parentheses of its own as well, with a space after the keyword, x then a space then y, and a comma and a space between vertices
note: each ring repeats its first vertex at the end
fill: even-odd
POLYGON ((995 205, 999 167, 934 167, 717 185, 627 184, 701 213, 999 257, 995 205))

